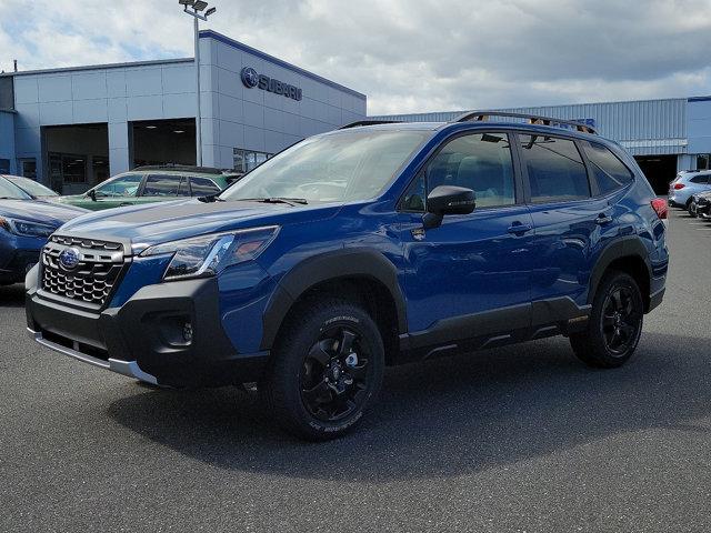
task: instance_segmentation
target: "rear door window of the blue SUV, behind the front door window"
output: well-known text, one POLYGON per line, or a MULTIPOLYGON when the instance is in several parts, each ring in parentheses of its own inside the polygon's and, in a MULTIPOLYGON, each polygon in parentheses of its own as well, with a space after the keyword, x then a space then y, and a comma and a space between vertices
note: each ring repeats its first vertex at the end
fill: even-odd
POLYGON ((548 135, 519 134, 528 170, 531 201, 537 203, 590 198, 588 172, 575 143, 548 135))

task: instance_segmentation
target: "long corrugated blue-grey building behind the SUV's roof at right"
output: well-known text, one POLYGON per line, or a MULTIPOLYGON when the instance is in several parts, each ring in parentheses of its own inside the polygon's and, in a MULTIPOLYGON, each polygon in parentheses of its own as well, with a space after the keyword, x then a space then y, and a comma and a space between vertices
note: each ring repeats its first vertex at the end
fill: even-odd
MULTIPOLYGON (((711 97, 580 103, 499 109, 578 120, 618 141, 634 155, 658 193, 665 193, 680 170, 710 169, 711 97)), ((465 111, 372 117, 382 120, 443 122, 465 111)))

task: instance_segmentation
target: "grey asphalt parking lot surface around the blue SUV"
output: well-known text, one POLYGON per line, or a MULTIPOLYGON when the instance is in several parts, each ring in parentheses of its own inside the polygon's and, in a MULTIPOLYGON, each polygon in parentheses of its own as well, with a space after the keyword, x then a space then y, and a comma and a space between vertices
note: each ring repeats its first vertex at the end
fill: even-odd
POLYGON ((32 343, 0 288, 0 531, 709 531, 711 223, 674 211, 635 358, 564 339, 390 369, 307 444, 231 389, 152 390, 32 343))

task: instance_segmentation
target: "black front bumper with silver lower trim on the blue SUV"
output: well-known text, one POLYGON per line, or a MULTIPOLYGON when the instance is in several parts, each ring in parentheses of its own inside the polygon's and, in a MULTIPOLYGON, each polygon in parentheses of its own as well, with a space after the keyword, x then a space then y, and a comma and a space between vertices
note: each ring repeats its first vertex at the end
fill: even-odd
POLYGON ((269 353, 237 352, 222 329, 213 278, 147 285, 100 312, 38 290, 36 278, 37 269, 28 276, 28 330, 54 351, 167 386, 261 379, 269 353))

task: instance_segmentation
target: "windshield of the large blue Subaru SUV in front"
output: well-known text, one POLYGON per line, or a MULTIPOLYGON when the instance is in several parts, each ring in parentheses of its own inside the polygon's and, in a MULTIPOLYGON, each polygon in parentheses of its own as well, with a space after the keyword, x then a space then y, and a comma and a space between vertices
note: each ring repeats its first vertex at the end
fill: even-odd
POLYGON ((220 199, 368 200, 383 190, 427 138, 424 131, 383 130, 312 137, 256 168, 220 199))

